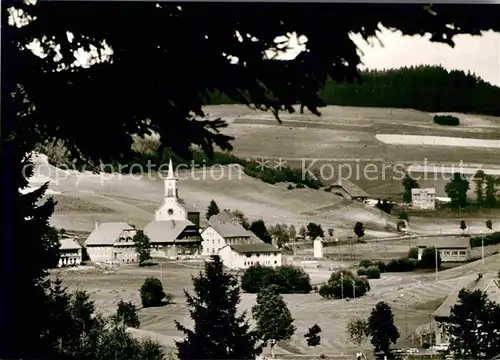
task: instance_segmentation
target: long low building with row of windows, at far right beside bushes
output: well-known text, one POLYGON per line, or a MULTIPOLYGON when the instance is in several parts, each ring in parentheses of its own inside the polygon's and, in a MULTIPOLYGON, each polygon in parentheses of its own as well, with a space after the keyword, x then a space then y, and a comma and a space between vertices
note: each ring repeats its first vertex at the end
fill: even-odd
POLYGON ((417 242, 418 260, 427 247, 434 247, 439 251, 442 262, 464 262, 471 259, 470 238, 463 236, 435 237, 417 242))

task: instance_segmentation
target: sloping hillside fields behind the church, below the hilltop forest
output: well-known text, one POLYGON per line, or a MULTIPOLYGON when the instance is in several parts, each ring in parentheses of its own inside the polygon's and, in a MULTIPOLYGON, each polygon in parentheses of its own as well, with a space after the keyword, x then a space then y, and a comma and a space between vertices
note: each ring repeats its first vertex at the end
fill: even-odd
MULTIPOLYGON (((461 118, 460 126, 443 127, 432 122, 432 114, 415 110, 329 106, 322 109, 321 117, 283 114, 283 122, 279 124, 272 115, 244 106, 209 106, 206 111, 209 116, 221 117, 229 123, 225 132, 235 137, 236 155, 282 158, 286 165, 302 168, 304 172, 310 166, 322 171, 325 183, 341 173, 373 198, 399 199, 402 170, 408 166, 447 166, 444 174, 435 173, 435 169, 420 174, 420 186, 435 187, 437 196, 445 196, 444 185, 448 181, 446 176, 449 177, 446 172, 450 172, 452 165, 462 161, 469 170, 480 166, 491 171, 500 168, 498 147, 391 145, 377 139, 377 135, 383 134, 432 134, 494 140, 500 138, 500 121, 494 117, 457 115, 461 118)), ((117 220, 142 227, 152 219, 162 200, 163 184, 156 173, 139 178, 64 172, 41 157, 36 174, 39 179, 52 179, 50 188, 59 193, 55 195, 59 204, 52 222, 67 230, 91 231, 96 221, 117 220)), ((178 175, 180 196, 202 213, 210 200, 215 199, 222 208, 239 209, 251 220, 263 218, 270 224, 300 226, 318 222, 324 228, 335 228, 337 236, 342 237, 351 236, 354 222, 362 221, 369 237, 394 234, 394 217, 322 190, 287 190, 286 184, 263 183, 234 166, 178 175)), ((469 194, 473 197, 472 186, 469 194)), ((467 215, 467 219, 471 232, 483 230, 484 216, 467 215)), ((440 219, 414 216, 412 225, 417 232, 456 232, 457 216, 440 219)))

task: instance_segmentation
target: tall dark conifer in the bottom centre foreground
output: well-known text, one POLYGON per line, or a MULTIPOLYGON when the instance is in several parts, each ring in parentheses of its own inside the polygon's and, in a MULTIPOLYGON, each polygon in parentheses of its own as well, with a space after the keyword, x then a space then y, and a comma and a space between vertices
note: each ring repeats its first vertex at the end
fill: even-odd
POLYGON ((176 343, 179 359, 243 360, 260 355, 257 332, 250 329, 246 314, 237 315, 238 281, 224 272, 218 256, 205 263, 204 272, 193 277, 193 285, 194 294, 184 294, 194 328, 175 322, 185 334, 176 343))

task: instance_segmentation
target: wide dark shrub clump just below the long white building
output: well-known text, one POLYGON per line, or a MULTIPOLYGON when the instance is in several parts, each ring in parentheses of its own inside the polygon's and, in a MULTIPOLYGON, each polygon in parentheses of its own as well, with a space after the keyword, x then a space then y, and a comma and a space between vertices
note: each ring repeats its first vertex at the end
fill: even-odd
POLYGON ((269 285, 278 286, 281 294, 307 294, 312 290, 311 279, 304 269, 291 265, 275 269, 254 265, 244 272, 241 280, 241 288, 248 293, 258 293, 269 285))

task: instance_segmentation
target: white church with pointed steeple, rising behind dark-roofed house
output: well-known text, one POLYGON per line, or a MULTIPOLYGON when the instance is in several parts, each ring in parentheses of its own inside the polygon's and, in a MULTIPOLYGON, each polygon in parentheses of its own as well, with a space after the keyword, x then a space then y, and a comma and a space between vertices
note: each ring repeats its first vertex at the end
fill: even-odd
POLYGON ((168 174, 164 184, 165 197, 163 203, 155 210, 155 221, 189 220, 199 228, 200 212, 179 198, 178 179, 174 175, 172 159, 168 164, 168 174))

